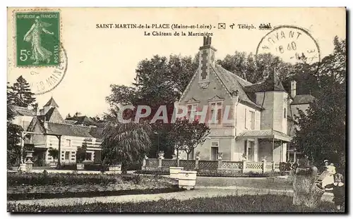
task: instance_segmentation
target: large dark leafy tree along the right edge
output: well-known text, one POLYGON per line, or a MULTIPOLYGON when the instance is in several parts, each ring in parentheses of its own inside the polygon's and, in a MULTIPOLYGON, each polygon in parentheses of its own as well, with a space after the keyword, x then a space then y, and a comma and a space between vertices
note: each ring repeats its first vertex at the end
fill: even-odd
POLYGON ((293 139, 297 149, 316 165, 323 159, 345 168, 346 133, 346 47, 345 40, 334 39, 333 54, 323 58, 317 72, 320 85, 318 99, 308 111, 299 111, 293 139))

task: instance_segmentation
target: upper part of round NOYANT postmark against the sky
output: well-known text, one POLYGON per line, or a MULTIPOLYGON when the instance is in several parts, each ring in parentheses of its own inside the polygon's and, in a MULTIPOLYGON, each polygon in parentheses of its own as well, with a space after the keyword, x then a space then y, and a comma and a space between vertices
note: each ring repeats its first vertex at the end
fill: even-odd
POLYGON ((320 63, 320 48, 304 28, 282 25, 273 28, 259 42, 258 54, 273 54, 288 63, 320 63))

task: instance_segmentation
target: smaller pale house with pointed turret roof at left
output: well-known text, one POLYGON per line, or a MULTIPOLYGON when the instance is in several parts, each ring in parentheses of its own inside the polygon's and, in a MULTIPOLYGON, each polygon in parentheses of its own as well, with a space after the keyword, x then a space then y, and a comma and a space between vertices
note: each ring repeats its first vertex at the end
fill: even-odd
POLYGON ((23 123, 25 131, 38 133, 27 134, 25 139, 25 146, 34 148, 35 165, 47 165, 54 161, 52 156, 49 156, 48 149, 51 147, 59 149, 59 139, 61 164, 76 163, 76 151, 84 144, 87 146, 85 160, 100 162, 102 142, 102 128, 98 127, 100 124, 85 116, 63 119, 53 98, 49 99, 37 113, 24 111, 17 106, 13 108, 17 109, 14 122, 18 125, 23 123))

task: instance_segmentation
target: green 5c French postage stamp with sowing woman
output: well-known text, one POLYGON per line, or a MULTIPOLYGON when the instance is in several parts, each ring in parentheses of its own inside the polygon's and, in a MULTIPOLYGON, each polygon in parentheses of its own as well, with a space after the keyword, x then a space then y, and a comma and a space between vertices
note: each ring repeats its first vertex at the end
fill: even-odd
POLYGON ((60 14, 55 11, 16 12, 18 67, 60 63, 60 14))

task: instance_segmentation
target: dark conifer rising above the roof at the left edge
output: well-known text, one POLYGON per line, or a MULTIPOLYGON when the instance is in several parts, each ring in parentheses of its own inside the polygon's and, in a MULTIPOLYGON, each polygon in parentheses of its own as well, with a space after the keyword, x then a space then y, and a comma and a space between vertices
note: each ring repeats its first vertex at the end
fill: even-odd
POLYGON ((30 91, 30 85, 22 75, 17 78, 16 82, 9 89, 11 89, 8 93, 10 104, 25 108, 28 106, 35 107, 35 94, 30 91))

